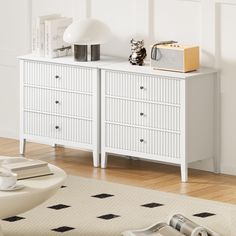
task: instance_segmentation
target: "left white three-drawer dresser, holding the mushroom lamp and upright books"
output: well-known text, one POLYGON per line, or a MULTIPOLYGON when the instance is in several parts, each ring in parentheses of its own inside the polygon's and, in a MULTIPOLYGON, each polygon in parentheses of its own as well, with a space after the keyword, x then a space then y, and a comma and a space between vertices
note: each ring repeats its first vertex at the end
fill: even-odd
POLYGON ((112 63, 20 57, 20 153, 25 141, 66 145, 93 152, 99 166, 100 66, 112 63))

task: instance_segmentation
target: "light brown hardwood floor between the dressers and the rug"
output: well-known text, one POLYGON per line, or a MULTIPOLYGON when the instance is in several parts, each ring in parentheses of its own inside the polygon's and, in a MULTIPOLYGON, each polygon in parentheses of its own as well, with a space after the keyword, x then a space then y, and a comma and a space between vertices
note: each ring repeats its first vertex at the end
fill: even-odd
MULTIPOLYGON (((18 141, 0 138, 0 155, 19 156, 18 141)), ((181 183, 179 167, 109 157, 104 170, 92 167, 91 153, 36 143, 27 143, 25 157, 48 161, 71 175, 236 204, 236 176, 190 169, 188 183, 181 183)))

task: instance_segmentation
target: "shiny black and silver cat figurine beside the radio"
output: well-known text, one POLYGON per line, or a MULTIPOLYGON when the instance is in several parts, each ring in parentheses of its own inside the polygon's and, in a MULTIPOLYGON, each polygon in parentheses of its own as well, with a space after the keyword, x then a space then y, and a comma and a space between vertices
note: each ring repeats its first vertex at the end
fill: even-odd
POLYGON ((142 66, 144 63, 144 59, 147 56, 146 49, 144 48, 144 41, 136 41, 131 39, 131 55, 129 56, 129 62, 132 65, 142 66))

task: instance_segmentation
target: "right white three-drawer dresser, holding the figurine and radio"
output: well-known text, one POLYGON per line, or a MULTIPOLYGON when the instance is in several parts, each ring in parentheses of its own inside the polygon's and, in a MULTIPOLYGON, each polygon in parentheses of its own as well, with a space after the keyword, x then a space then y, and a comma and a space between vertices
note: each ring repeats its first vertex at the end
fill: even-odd
POLYGON ((107 154, 178 164, 216 158, 217 73, 175 73, 128 62, 102 67, 102 163, 107 154))

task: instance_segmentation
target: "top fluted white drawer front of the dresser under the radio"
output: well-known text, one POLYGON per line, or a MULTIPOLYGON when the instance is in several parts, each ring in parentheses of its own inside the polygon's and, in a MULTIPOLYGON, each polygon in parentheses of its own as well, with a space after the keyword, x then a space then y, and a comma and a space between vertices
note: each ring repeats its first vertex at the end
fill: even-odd
POLYGON ((105 76, 108 96, 180 104, 179 79, 108 70, 105 76))

